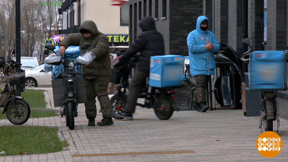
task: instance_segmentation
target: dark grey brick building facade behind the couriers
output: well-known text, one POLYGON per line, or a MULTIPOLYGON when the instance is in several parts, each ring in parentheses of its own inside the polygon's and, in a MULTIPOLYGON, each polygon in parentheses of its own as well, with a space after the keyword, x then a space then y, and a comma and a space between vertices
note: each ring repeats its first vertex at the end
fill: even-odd
MULTIPOLYGON (((228 44, 239 54, 246 52, 247 46, 243 45, 241 38, 247 36, 253 39, 253 49, 261 49, 263 0, 130 0, 130 18, 133 19, 129 25, 130 43, 137 38, 136 33, 139 35, 142 32, 138 26, 140 1, 141 16, 155 18, 156 28, 164 37, 166 54, 175 54, 176 50, 180 50, 181 55, 188 55, 187 35, 196 28, 196 19, 201 15, 210 20, 210 30, 214 31, 218 41, 228 44), (163 16, 163 2, 166 2, 167 16, 163 16)), ((286 0, 267 0, 267 50, 283 50, 285 44, 288 44, 286 3, 286 0)), ((181 110, 190 109, 187 108, 186 93, 185 87, 178 89, 176 95, 181 110)), ((280 100, 280 105, 282 100, 287 101, 285 97, 277 100, 280 100)), ((286 107, 285 103, 278 107, 279 112, 284 111, 281 107, 286 107)))

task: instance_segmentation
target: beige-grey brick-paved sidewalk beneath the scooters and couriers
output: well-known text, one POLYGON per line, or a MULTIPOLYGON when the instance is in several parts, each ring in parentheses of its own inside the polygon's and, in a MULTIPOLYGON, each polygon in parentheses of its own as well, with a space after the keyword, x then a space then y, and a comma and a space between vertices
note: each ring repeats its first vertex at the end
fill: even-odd
MULTIPOLYGON (((53 105, 52 88, 44 89, 46 108, 53 105), (51 102, 51 105, 50 105, 51 102)), ((99 102, 97 102, 99 108, 99 102)), ((259 116, 245 117, 242 110, 174 112, 169 120, 159 120, 153 110, 137 108, 133 121, 115 120, 112 126, 88 127, 84 104, 78 106, 75 129, 69 130, 65 118, 29 119, 24 125, 56 126, 68 150, 49 154, 0 157, 0 162, 82 162, 82 161, 288 161, 288 121, 280 118, 281 152, 266 158, 256 149, 261 134, 259 116)), ((98 113, 96 122, 101 121, 98 113)), ((13 126, 8 120, 1 125, 13 126)), ((274 130, 277 122, 274 122, 274 130)))

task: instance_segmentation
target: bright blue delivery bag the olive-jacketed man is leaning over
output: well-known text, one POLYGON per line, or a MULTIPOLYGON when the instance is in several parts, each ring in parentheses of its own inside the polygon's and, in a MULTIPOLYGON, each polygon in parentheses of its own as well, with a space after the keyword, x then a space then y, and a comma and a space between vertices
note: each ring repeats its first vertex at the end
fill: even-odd
MULTIPOLYGON (((59 46, 55 46, 54 52, 59 53, 59 46)), ((64 55, 62 55, 62 60, 64 60, 65 64, 69 64, 72 60, 74 64, 76 64, 76 58, 80 56, 80 47, 79 46, 69 46, 66 50, 64 55)), ((80 74, 80 66, 76 65, 75 71, 79 72, 80 74)), ((52 80, 59 79, 59 75, 64 71, 64 65, 53 65, 53 70, 51 71, 52 80)))

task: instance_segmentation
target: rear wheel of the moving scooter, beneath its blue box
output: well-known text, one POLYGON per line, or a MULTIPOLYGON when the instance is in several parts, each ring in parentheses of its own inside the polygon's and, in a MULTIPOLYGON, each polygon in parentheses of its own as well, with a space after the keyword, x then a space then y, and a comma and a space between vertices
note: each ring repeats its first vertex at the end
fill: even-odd
POLYGON ((172 96, 168 93, 162 94, 157 97, 158 101, 161 101, 161 106, 154 109, 156 116, 161 120, 168 120, 171 118, 174 112, 172 106, 172 96))

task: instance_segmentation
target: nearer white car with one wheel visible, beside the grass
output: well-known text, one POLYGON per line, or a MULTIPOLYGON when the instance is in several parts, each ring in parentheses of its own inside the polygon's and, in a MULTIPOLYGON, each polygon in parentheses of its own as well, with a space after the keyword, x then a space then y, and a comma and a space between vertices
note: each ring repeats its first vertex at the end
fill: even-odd
POLYGON ((44 64, 33 70, 25 70, 25 87, 52 87, 51 72, 44 71, 44 64))

